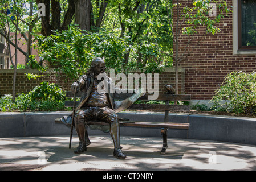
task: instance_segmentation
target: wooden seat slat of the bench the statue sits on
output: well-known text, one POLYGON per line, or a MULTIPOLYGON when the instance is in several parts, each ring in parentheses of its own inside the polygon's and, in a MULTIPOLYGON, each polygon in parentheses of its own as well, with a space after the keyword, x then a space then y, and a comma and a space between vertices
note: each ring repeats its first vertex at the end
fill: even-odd
MULTIPOLYGON (((55 119, 55 123, 62 123, 61 118, 55 119)), ((189 129, 189 123, 174 123, 174 122, 141 122, 141 121, 120 121, 120 126, 132 127, 167 127, 169 129, 189 129)), ((91 121, 88 125, 109 125, 100 121, 91 121)))

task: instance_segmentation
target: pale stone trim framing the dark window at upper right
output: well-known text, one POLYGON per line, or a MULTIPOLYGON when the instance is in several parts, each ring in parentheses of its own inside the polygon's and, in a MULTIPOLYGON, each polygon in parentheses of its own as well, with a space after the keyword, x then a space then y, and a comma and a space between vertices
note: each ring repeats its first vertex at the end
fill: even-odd
POLYGON ((238 50, 238 1, 233 0, 233 55, 256 55, 256 50, 238 50))

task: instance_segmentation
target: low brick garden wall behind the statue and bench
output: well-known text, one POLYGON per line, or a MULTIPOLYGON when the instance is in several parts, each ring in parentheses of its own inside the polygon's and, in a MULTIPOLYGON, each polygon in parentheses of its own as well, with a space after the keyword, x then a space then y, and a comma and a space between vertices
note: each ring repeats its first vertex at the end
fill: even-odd
MULTIPOLYGON (((139 73, 140 74, 140 73, 139 73)), ((185 91, 185 69, 179 69, 180 84, 178 85, 179 93, 185 91)), ((52 76, 52 73, 51 73, 52 76)), ((127 76, 128 77, 128 76, 127 76)), ((159 74, 159 93, 165 93, 164 85, 174 86, 174 68, 166 68, 165 71, 159 74)), ((55 82, 48 76, 48 72, 40 73, 36 69, 17 69, 16 80, 16 93, 29 93, 35 86, 40 85, 41 82, 55 82), (36 78, 36 80, 28 80, 24 73, 34 73, 37 75, 43 75, 43 77, 36 78)), ((152 78, 153 82, 153 78, 152 78)), ((58 83, 57 83, 58 84, 58 83)), ((67 86, 69 89, 69 86, 67 86)), ((152 85, 153 88, 153 85, 152 85)), ((13 69, 0 69, 0 96, 5 94, 11 94, 13 91, 13 69)))

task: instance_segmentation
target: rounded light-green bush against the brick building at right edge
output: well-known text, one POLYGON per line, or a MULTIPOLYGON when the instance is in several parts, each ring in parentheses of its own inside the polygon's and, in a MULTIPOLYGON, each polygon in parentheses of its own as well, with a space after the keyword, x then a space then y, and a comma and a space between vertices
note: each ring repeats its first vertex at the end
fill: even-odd
POLYGON ((237 71, 227 75, 221 87, 216 90, 212 102, 214 106, 221 106, 232 113, 255 113, 256 72, 237 71), (223 100, 225 104, 220 105, 223 100))

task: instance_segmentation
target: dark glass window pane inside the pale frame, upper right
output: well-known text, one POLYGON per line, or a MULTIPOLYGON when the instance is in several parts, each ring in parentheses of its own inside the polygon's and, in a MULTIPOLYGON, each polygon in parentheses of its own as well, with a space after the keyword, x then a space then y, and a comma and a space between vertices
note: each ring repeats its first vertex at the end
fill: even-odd
POLYGON ((238 49, 256 49, 256 0, 238 1, 238 49))

